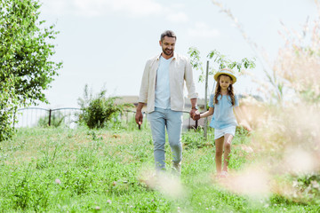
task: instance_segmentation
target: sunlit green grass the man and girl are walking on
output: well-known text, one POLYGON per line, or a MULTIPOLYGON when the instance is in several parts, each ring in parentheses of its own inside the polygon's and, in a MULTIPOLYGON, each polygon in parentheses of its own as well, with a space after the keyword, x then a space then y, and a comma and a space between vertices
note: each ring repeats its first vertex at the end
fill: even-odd
MULTIPOLYGON (((211 131, 208 138, 204 141, 201 131, 183 134, 184 193, 172 198, 140 182, 141 172, 154 164, 148 128, 20 129, 12 140, 0 143, 0 212, 319 211, 316 205, 276 195, 253 199, 214 184, 211 131)), ((230 170, 253 161, 255 156, 240 148, 246 143, 244 135, 234 139, 230 170)), ((168 145, 166 154, 169 164, 168 145)))

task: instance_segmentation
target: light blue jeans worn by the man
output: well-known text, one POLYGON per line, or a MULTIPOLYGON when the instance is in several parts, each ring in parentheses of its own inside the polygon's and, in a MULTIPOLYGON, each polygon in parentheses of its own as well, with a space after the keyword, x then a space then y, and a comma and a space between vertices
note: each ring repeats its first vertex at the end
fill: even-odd
POLYGON ((180 163, 182 160, 182 112, 156 107, 154 112, 148 114, 148 121, 154 142, 156 170, 164 170, 165 168, 165 127, 172 150, 172 162, 180 163))

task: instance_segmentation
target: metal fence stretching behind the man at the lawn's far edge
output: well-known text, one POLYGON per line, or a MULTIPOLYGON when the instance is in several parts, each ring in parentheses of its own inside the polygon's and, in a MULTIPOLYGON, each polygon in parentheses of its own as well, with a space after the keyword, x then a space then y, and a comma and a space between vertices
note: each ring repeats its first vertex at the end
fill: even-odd
MULTIPOLYGON (((47 109, 41 107, 27 107, 18 109, 16 116, 16 128, 36 127, 36 126, 60 126, 64 125, 68 128, 76 128, 78 114, 81 113, 80 108, 63 107, 47 109)), ((119 118, 126 123, 135 121, 135 111, 125 110, 123 114, 119 114, 119 118)), ((148 122, 148 114, 143 113, 144 123, 148 122)), ((198 122, 190 119, 189 112, 183 112, 183 129, 189 130, 196 128, 198 122)), ((138 128, 138 126, 137 126, 138 128)))

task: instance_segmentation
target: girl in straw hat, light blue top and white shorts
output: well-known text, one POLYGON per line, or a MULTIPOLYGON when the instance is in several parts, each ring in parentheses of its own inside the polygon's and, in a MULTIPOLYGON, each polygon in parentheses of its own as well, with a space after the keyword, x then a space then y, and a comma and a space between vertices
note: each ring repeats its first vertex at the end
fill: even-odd
MULTIPOLYGON (((236 133, 236 117, 241 118, 239 102, 234 94, 233 83, 236 83, 236 76, 231 69, 221 69, 214 80, 217 81, 214 95, 212 94, 209 101, 209 110, 204 114, 196 113, 193 116, 194 120, 212 116, 210 126, 214 128, 215 140, 215 163, 218 177, 228 176, 228 162, 230 160, 231 141, 236 133), (234 114, 236 113, 236 116, 234 114), (224 150, 224 152, 223 152, 224 150), (223 168, 222 154, 224 155, 223 168)), ((251 128, 244 125, 244 128, 251 131, 251 128)))

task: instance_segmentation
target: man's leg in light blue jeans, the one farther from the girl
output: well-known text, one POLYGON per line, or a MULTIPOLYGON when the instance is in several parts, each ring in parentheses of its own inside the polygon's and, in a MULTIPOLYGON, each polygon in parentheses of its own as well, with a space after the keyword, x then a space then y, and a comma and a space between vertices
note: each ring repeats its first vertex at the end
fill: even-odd
POLYGON ((165 168, 165 119, 162 110, 154 111, 148 114, 150 122, 151 133, 154 143, 154 156, 156 163, 156 170, 164 170, 165 168))

